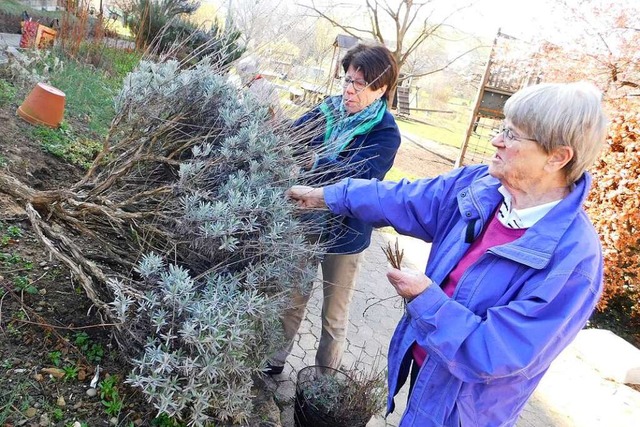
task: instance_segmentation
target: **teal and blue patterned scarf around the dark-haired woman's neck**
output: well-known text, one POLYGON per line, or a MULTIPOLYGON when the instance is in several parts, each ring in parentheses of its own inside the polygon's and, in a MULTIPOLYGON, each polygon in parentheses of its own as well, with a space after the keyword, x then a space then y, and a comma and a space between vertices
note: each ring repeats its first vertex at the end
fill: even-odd
POLYGON ((358 135, 368 133, 382 121, 387 103, 377 99, 371 105, 349 115, 342 103, 342 96, 327 98, 321 105, 327 125, 324 133, 324 157, 335 160, 347 145, 358 135))

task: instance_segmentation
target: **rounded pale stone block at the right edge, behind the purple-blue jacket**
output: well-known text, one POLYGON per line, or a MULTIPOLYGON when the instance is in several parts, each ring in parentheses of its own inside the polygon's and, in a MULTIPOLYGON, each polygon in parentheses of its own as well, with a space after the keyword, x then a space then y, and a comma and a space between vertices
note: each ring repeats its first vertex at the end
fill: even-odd
POLYGON ((572 343, 577 356, 603 378, 640 384, 640 349, 606 329, 584 329, 572 343))

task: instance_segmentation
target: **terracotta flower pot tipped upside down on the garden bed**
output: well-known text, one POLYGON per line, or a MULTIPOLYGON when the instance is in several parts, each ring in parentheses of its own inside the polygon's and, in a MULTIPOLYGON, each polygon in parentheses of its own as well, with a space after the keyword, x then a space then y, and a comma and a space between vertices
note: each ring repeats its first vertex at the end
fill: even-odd
POLYGON ((31 124, 57 128, 64 117, 64 102, 65 95, 60 89, 38 83, 18 107, 17 113, 31 124))

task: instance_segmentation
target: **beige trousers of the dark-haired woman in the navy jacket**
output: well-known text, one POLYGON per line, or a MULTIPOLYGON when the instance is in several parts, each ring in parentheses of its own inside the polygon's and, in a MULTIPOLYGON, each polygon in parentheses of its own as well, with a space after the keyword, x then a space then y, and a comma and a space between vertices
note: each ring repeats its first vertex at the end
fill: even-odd
MULTIPOLYGON (((350 255, 327 254, 322 262, 322 331, 316 352, 316 365, 339 368, 347 339, 349 305, 355 291, 356 277, 363 253, 350 255)), ((304 318, 311 293, 296 292, 292 306, 282 316, 287 345, 271 358, 271 364, 284 366, 291 353, 293 341, 304 318)))

